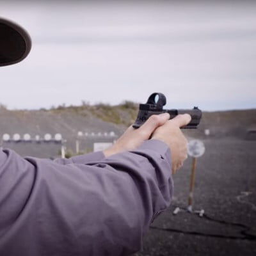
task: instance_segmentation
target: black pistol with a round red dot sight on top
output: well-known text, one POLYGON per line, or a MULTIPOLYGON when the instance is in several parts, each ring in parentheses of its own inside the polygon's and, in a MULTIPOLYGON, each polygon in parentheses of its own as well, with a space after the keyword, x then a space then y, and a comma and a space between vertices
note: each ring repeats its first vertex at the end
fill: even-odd
POLYGON ((166 97, 163 93, 155 92, 152 93, 146 104, 140 104, 139 113, 136 119, 136 122, 132 125, 134 128, 139 128, 143 125, 146 120, 152 115, 159 115, 161 113, 169 113, 170 119, 179 115, 188 113, 191 115, 191 121, 188 125, 182 127, 182 129, 196 129, 197 125, 200 123, 202 118, 202 111, 197 107, 193 109, 163 109, 163 106, 166 104, 166 97), (158 100, 156 97, 158 96, 158 100))

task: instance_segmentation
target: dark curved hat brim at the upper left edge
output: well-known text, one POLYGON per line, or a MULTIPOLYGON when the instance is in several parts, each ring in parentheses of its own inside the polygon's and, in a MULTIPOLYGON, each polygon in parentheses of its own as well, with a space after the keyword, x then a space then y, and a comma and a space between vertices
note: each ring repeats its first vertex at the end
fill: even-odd
POLYGON ((0 17, 0 67, 24 60, 30 50, 28 32, 15 22, 0 17))

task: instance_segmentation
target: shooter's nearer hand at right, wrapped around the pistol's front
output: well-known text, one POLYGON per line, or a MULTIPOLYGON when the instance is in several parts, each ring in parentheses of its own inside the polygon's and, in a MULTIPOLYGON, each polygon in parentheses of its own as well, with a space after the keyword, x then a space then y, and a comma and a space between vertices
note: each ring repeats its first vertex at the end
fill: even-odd
POLYGON ((172 172, 175 173, 188 157, 186 140, 180 127, 187 125, 191 120, 188 114, 177 115, 172 120, 165 122, 152 134, 152 139, 164 141, 171 150, 172 172))

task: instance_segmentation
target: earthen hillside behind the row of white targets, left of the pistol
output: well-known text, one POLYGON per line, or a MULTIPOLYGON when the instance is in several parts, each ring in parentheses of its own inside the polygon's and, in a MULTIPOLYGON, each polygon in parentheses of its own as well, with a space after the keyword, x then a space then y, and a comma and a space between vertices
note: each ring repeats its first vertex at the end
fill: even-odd
MULTIPOLYGON (((90 106, 59 106, 58 108, 40 110, 8 110, 0 108, 0 136, 18 133, 30 134, 31 138, 49 133, 54 136, 60 133, 67 140, 67 150, 74 154, 76 151, 77 132, 104 133, 114 132, 115 136, 80 137, 81 152, 90 152, 94 142, 113 142, 120 136, 127 126, 136 118, 137 106, 132 102, 124 102, 118 106, 97 104, 90 106)), ((4 148, 12 148, 22 155, 56 157, 60 153, 60 145, 56 143, 3 143, 4 148)))

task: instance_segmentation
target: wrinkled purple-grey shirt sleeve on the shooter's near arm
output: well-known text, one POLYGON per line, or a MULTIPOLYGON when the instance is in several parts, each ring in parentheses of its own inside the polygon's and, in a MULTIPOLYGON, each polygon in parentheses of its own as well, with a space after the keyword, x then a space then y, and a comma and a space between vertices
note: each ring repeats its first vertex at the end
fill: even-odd
MULTIPOLYGON (((89 155, 90 156, 90 155, 89 155)), ((0 150, 0 255, 129 255, 170 205, 170 150, 158 140, 105 158, 22 158, 0 150)))

